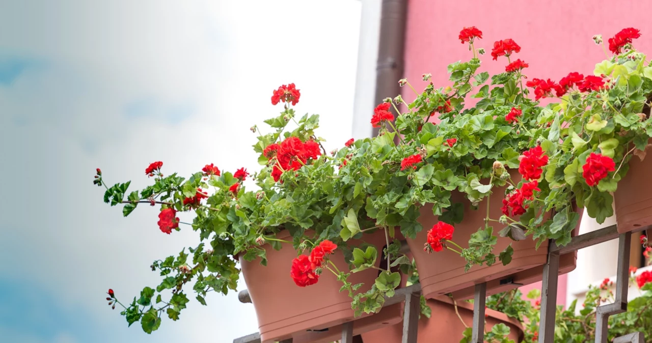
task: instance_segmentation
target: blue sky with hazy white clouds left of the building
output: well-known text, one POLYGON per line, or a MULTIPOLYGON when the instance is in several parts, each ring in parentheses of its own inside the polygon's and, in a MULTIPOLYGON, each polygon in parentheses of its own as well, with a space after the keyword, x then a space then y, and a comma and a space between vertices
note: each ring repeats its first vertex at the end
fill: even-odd
POLYGON ((359 18, 353 0, 1 1, 1 340, 221 343, 256 331, 235 294, 192 301, 153 335, 126 327, 106 290, 128 299, 157 284, 151 262, 198 237, 161 234, 152 208, 123 218, 93 174, 135 189, 157 160, 184 175, 256 170, 248 129, 290 82, 298 111, 322 115, 327 148, 341 146, 359 18))

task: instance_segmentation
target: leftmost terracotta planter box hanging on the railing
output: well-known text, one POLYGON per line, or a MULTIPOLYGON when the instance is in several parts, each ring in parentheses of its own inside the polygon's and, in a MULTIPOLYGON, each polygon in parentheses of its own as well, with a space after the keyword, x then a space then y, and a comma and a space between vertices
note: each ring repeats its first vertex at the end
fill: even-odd
MULTIPOLYGON (((288 239, 290 236, 289 232, 284 231, 277 237, 288 239)), ((382 251, 385 246, 385 234, 382 231, 366 234, 364 241, 375 245, 378 251, 382 251)), ((352 245, 356 243, 362 242, 351 241, 352 245)), ((266 245, 265 249, 267 266, 261 266, 259 259, 247 262, 242 257, 239 258, 244 281, 256 309, 262 342, 295 337, 295 342, 321 342, 321 338, 328 339, 328 333, 315 331, 331 328, 328 331, 333 333, 336 332, 336 325, 354 319, 351 298, 348 292, 340 292, 342 282, 337 281, 333 273, 325 270, 316 284, 299 287, 289 276, 292 259, 297 256, 297 252, 289 245, 284 245, 279 251, 272 249, 270 245, 266 245), (302 336, 304 337, 301 338, 302 336)), ((381 258, 376 260, 376 266, 379 265, 380 260, 381 258)), ((340 270, 348 270, 348 263, 345 262, 341 252, 336 251, 331 255, 331 261, 340 270)), ((349 277, 349 282, 353 284, 364 282, 364 286, 358 292, 366 292, 374 284, 378 272, 377 269, 370 268, 353 273, 349 277)), ((396 323, 401 320, 401 315, 400 307, 394 309, 387 307, 379 314, 359 317, 353 327, 357 327, 357 333, 361 333, 365 327, 371 330, 376 329, 377 325, 396 323)), ((338 335, 342 335, 341 330, 337 332, 338 335)))

